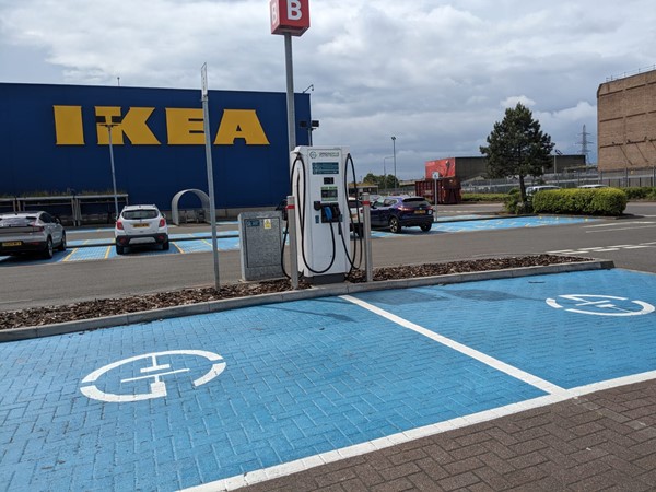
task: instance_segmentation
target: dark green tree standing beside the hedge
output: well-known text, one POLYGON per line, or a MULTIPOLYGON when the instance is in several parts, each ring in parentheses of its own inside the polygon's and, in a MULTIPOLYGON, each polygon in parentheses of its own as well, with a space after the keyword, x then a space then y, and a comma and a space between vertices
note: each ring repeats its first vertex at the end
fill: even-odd
POLYGON ((495 122, 481 154, 488 162, 491 178, 517 176, 522 201, 526 202, 525 176, 539 177, 551 164, 551 137, 540 130, 540 122, 522 103, 507 108, 503 121, 495 122))

